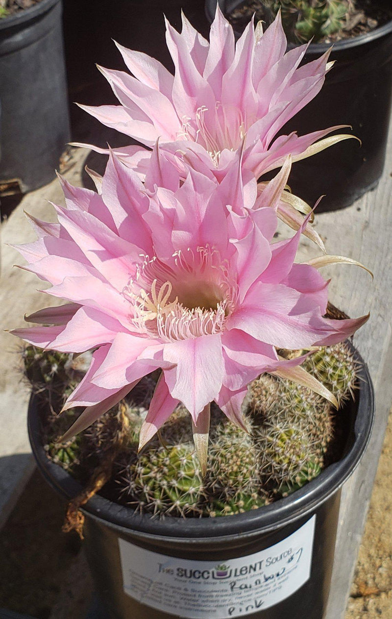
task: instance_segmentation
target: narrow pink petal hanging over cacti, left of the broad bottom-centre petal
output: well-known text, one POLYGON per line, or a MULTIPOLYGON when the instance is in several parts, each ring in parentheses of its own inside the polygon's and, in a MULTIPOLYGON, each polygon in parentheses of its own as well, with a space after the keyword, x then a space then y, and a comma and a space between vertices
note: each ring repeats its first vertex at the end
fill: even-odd
POLYGON ((152 439, 159 428, 162 428, 163 423, 168 420, 178 403, 178 400, 170 396, 163 374, 161 374, 150 402, 149 412, 142 423, 139 438, 139 451, 152 439))

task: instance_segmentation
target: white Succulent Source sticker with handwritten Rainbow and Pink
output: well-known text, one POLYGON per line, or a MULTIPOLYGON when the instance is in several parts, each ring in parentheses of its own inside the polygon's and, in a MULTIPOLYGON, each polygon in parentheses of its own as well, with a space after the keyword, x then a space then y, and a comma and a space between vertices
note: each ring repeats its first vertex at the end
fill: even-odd
POLYGON ((253 555, 189 561, 119 539, 124 592, 190 619, 243 617, 281 602, 307 582, 316 516, 282 542, 253 555))

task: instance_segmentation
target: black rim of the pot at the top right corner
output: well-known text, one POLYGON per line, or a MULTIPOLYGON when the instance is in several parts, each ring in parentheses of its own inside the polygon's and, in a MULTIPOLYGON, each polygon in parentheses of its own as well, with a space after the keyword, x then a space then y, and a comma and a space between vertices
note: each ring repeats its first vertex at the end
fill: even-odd
MULTIPOLYGON (((223 0, 224 2, 225 0, 223 0)), ((240 4, 244 0, 238 0, 237 4, 240 4)), ((216 7, 218 0, 206 0, 206 4, 204 5, 204 10, 206 13, 207 20, 209 24, 212 23, 214 19, 214 12, 212 11, 213 7, 216 7)), ((219 2, 221 5, 222 2, 219 2)), ((223 11, 225 14, 225 11, 223 11)), ((233 28, 234 30, 234 28, 233 28)), ((240 33, 237 30, 234 30, 235 33, 239 36, 240 33)), ((342 39, 341 41, 336 41, 335 43, 309 43, 307 54, 315 53, 315 54, 323 54, 329 49, 333 49, 334 53, 336 51, 349 50, 353 47, 357 47, 359 45, 366 45, 366 43, 372 43, 372 41, 377 40, 378 38, 384 37, 392 33, 392 19, 389 22, 386 22, 383 26, 379 26, 374 30, 370 30, 370 32, 365 33, 364 35, 359 35, 358 37, 350 37, 346 39, 342 39)), ((287 43, 287 50, 292 50, 296 47, 299 47, 302 43, 287 43)))

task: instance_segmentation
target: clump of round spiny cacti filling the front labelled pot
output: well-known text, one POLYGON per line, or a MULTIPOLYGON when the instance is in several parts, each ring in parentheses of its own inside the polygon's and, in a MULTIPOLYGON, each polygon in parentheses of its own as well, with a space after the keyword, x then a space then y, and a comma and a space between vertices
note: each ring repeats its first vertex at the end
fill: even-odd
MULTIPOLYGON (((49 386, 51 405, 56 400, 61 407, 64 394, 82 378, 83 359, 34 347, 28 347, 24 357, 33 388, 42 391, 49 386)), ((303 367, 333 392, 339 404, 353 394, 357 366, 346 344, 320 348, 305 359, 303 367)), ((189 413, 181 405, 137 454, 139 431, 156 380, 157 376, 148 376, 137 391, 65 444, 58 437, 78 410, 59 417, 50 413, 48 457, 71 474, 89 469, 87 480, 100 470, 103 483, 110 478, 105 488, 110 487, 111 496, 120 503, 172 516, 227 516, 256 509, 302 487, 328 464, 336 410, 306 387, 270 374, 249 386, 247 432, 212 407, 206 477, 194 451, 189 413)))

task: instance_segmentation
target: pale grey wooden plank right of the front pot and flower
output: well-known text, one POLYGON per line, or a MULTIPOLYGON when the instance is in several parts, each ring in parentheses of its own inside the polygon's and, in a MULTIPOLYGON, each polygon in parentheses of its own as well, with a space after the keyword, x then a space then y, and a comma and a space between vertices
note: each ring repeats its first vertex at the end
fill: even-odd
MULTIPOLYGON (((332 152, 332 149, 331 149, 332 152)), ((370 311, 370 319, 354 336, 366 361, 376 396, 372 438, 362 462, 342 491, 338 541, 326 619, 341 619, 349 596, 364 530, 368 503, 377 471, 392 404, 392 131, 385 169, 378 188, 347 209, 316 215, 316 229, 327 253, 343 254, 365 264, 370 276, 355 266, 336 265, 321 272, 332 277, 330 300, 350 316, 370 311)), ((302 243, 302 257, 320 252, 302 243)), ((386 515, 388 517, 388 515, 386 515)))

